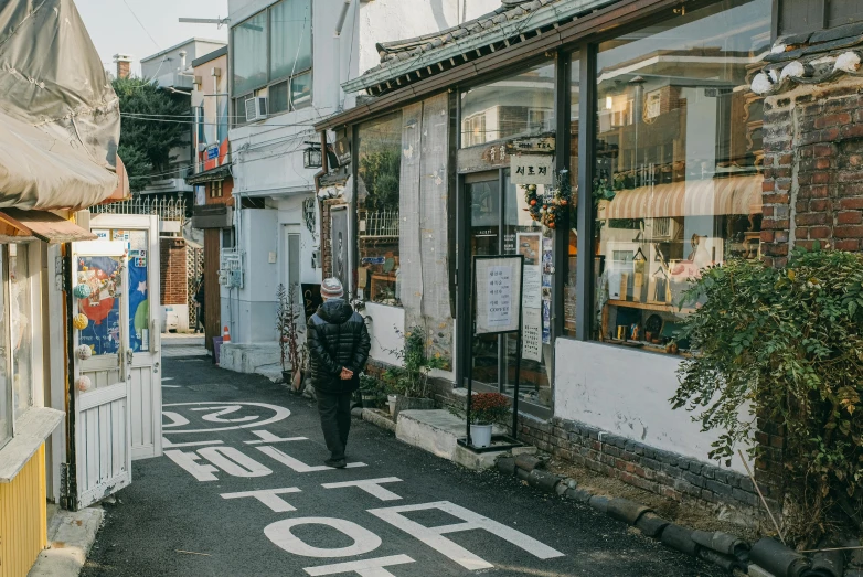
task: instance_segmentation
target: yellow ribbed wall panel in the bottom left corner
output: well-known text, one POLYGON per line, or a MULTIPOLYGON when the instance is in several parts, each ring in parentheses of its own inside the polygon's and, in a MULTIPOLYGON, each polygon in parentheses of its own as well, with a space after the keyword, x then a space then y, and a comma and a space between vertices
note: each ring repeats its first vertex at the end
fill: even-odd
POLYGON ((45 446, 0 484, 0 577, 25 577, 47 545, 45 446))

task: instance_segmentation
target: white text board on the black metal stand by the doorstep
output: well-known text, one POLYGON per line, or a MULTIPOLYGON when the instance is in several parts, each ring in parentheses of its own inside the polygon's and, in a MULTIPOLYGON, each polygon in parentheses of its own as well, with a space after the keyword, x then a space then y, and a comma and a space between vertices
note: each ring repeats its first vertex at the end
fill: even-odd
POLYGON ((477 334, 519 330, 522 264, 521 255, 475 258, 477 334))

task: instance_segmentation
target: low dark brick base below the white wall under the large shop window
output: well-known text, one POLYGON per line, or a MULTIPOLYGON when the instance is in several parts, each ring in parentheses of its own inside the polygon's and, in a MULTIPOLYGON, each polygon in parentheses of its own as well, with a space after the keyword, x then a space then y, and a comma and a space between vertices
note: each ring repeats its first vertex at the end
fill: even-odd
MULTIPOLYGON (((433 381, 432 388, 438 404, 464 410, 465 396, 456 394, 451 383, 433 381)), ((754 517, 759 506, 755 485, 747 476, 736 471, 557 417, 541 420, 522 415, 519 427, 519 440, 523 442, 561 460, 678 502, 703 506, 721 504, 734 507, 744 519, 754 517)), ((769 442, 770 438, 767 440, 769 442)), ((771 487, 761 487, 761 491, 765 498, 778 501, 771 487)))

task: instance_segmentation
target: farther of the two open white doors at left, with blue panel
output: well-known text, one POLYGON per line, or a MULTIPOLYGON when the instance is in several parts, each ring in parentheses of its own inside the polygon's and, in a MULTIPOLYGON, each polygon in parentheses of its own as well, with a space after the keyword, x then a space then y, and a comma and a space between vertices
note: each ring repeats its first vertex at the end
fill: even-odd
POLYGON ((126 313, 129 334, 127 375, 130 383, 131 458, 162 455, 162 354, 159 311, 159 217, 99 214, 90 231, 124 243, 129 255, 126 313))

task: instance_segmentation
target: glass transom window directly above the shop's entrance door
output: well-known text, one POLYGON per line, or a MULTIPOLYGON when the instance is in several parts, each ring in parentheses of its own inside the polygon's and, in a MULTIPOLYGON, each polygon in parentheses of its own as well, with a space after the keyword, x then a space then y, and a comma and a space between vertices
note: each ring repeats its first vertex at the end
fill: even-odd
POLYGON ((554 63, 461 93, 461 147, 554 130, 554 63))

